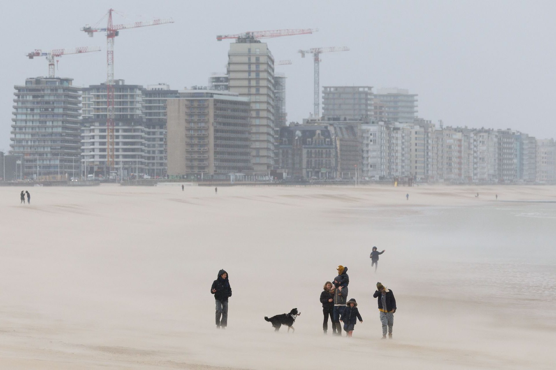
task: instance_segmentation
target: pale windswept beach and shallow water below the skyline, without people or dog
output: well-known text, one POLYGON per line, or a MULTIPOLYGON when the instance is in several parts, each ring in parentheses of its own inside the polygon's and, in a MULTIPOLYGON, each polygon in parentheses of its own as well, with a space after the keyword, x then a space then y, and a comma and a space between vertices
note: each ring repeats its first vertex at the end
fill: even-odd
POLYGON ((22 189, 0 187, 2 369, 556 364, 556 187, 32 187, 20 205, 22 189), (340 264, 364 320, 351 339, 322 334, 340 264), (377 281, 398 303, 393 340, 377 281), (294 307, 295 334, 263 319, 294 307))

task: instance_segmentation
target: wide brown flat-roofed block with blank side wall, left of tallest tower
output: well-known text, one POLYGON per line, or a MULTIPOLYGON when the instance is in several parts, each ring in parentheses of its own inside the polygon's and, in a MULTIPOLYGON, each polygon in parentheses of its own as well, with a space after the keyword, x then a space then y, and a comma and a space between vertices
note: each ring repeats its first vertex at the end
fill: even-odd
POLYGON ((252 173, 249 98, 192 89, 166 104, 171 178, 226 179, 252 173))

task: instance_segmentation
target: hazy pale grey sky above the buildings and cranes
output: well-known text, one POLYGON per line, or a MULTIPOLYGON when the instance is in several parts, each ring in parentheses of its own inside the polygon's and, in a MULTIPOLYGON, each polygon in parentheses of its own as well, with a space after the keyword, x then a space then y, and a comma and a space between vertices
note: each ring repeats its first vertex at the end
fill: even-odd
MULTIPOLYGON (((299 49, 347 46, 322 54, 322 85, 408 88, 419 116, 445 125, 513 128, 556 136, 554 1, 36 1, 4 2, 0 75, 0 149, 9 148, 13 85, 46 75, 33 49, 95 46, 66 55, 57 75, 76 85, 106 80, 106 37, 80 31, 110 7, 115 23, 172 17, 175 23, 123 30, 115 42, 115 78, 166 82, 175 89, 206 85, 224 72, 230 41, 217 34, 319 28, 312 35, 267 39, 276 72, 287 75, 288 119, 312 111, 313 65, 299 49)), ((102 26, 105 26, 102 22, 102 26)))

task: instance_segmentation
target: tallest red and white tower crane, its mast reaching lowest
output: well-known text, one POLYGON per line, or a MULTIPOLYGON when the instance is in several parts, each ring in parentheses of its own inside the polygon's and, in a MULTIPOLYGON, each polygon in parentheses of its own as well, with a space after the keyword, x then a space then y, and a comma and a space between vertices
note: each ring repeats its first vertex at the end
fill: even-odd
MULTIPOLYGON (((105 28, 91 27, 88 24, 81 28, 89 37, 93 37, 95 32, 106 32, 106 146, 107 157, 106 165, 112 169, 114 166, 114 38, 120 34, 120 29, 158 26, 158 24, 173 23, 171 18, 153 19, 152 21, 133 22, 127 24, 113 24, 112 12, 117 13, 114 9, 108 9, 108 24, 105 28)), ((106 17, 106 15, 105 15, 106 17)), ((103 17, 104 18, 104 17, 103 17)), ((101 19, 102 20, 102 19, 101 19)), ((100 22, 100 21, 99 21, 100 22)))

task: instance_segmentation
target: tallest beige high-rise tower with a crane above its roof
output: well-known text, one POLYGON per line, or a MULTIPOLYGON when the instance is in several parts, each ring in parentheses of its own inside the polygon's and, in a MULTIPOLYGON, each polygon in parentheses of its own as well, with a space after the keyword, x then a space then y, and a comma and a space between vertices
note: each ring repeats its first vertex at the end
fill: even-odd
POLYGON ((266 43, 239 38, 228 52, 230 92, 250 99, 251 158, 255 174, 274 166, 274 57, 266 43))

